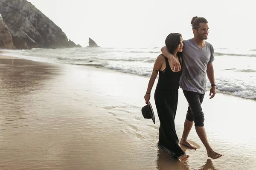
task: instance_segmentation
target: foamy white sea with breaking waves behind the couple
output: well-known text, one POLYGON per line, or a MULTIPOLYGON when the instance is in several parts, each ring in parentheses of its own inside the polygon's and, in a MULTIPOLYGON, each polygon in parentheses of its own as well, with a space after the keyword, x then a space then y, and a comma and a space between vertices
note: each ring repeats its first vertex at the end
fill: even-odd
MULTIPOLYGON (((61 48, 3 50, 5 55, 40 62, 87 65, 150 77, 160 48, 61 48)), ((256 99, 256 51, 221 48, 215 50, 218 92, 256 99)), ((209 82, 207 79, 207 87, 209 82)))

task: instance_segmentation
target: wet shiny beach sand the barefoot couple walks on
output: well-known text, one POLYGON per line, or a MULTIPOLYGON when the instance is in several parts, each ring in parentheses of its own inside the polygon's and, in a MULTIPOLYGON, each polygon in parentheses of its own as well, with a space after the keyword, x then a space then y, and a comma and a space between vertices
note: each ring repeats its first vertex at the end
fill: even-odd
MULTIPOLYGON (((51 65, 0 57, 0 169, 2 170, 253 170, 255 100, 217 94, 202 104, 212 148, 180 162, 156 146, 160 125, 141 108, 148 78, 100 68, 51 65)), ((156 84, 156 83, 155 83, 156 84)), ((151 94, 154 94, 155 86, 151 94)), ((187 103, 180 89, 175 119, 181 138, 187 103)))

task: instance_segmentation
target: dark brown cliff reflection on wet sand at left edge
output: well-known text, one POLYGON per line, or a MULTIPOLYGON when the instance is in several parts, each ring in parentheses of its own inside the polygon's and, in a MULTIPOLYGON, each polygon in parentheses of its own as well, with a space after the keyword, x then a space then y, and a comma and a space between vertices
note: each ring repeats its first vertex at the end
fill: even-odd
POLYGON ((0 59, 0 88, 6 94, 19 96, 29 91, 40 90, 44 80, 56 75, 49 64, 25 59, 0 59))

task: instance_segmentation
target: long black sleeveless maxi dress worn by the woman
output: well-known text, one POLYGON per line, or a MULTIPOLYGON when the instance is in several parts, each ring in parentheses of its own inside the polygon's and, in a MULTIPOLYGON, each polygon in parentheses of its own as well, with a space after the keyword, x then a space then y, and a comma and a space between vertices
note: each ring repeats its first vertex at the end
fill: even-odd
MULTIPOLYGON (((180 62, 180 57, 178 58, 180 62)), ((166 69, 159 72, 157 88, 154 93, 157 114, 160 120, 158 147, 169 153, 169 155, 178 157, 185 154, 179 146, 174 121, 182 70, 173 72, 166 57, 165 61, 166 69)))

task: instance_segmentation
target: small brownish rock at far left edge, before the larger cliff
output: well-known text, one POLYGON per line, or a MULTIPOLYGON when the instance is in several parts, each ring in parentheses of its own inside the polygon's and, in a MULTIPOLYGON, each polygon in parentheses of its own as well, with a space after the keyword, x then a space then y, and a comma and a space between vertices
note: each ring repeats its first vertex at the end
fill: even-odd
POLYGON ((0 14, 0 48, 13 49, 15 48, 12 42, 12 35, 9 28, 3 22, 2 15, 0 14))

